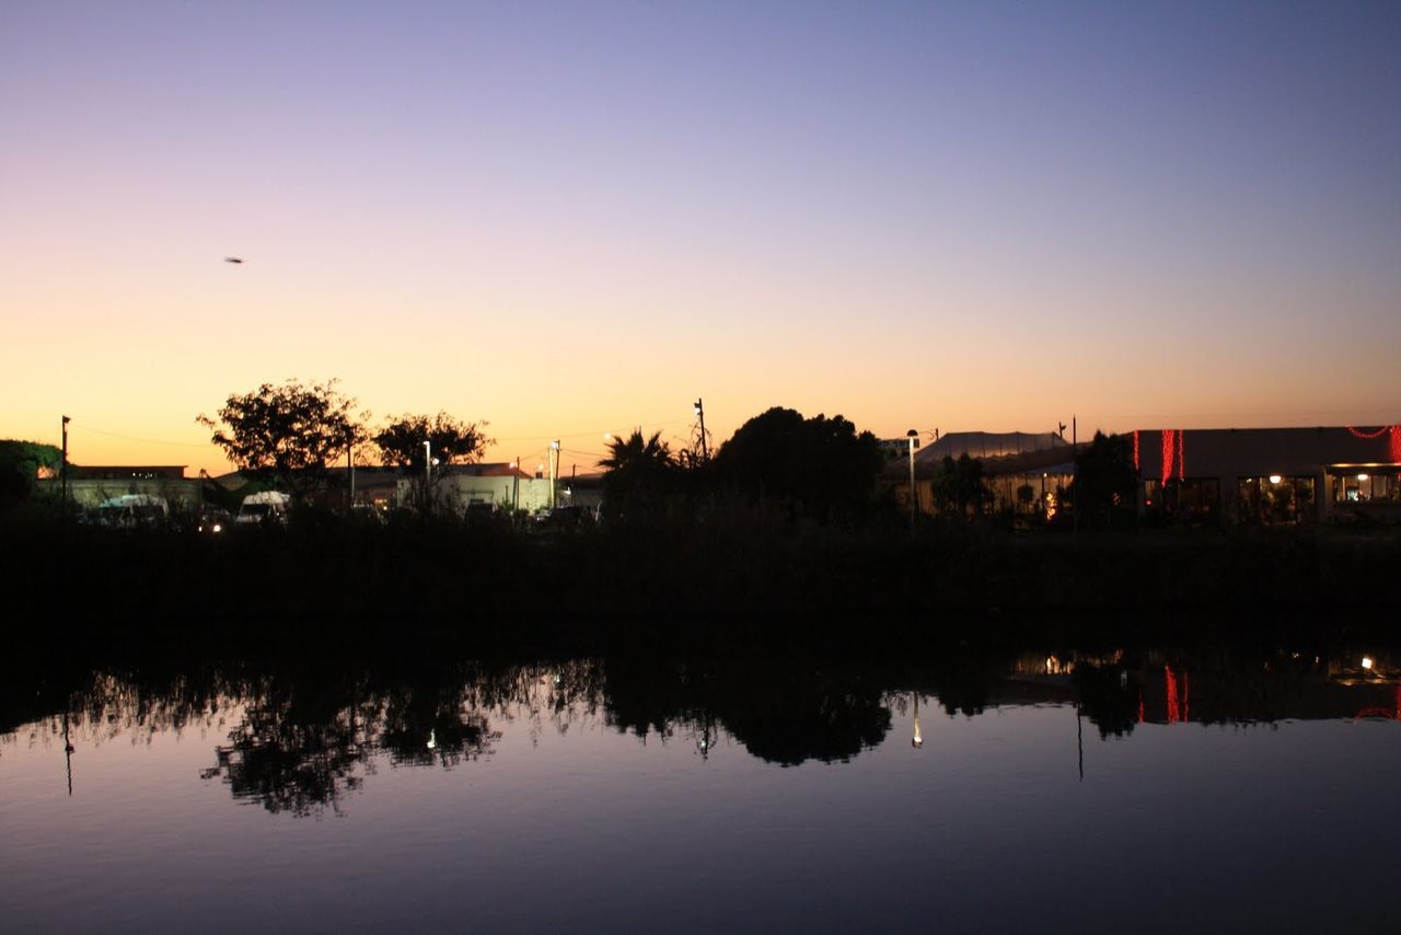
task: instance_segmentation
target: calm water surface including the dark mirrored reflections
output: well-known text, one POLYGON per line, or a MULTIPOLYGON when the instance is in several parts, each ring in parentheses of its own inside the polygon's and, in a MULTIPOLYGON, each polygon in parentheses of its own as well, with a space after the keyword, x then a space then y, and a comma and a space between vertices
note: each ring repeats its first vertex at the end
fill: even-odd
POLYGON ((1359 659, 34 676, 0 929, 1351 928, 1401 830, 1359 659))

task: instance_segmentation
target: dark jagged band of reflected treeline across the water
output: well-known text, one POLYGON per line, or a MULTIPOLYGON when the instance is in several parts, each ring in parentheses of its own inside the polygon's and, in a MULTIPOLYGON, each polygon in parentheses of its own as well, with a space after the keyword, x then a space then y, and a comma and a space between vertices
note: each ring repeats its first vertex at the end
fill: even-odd
MULTIPOLYGON (((1002 705, 1073 705, 1101 737, 1143 722, 1261 725, 1395 715, 1395 684, 1356 670, 1360 652, 1391 671, 1394 641, 1233 639, 1209 645, 1054 642, 866 646, 834 653, 633 652, 600 656, 455 655, 439 641, 133 641, 94 631, 0 660, 0 742, 200 728, 206 779, 272 812, 315 814, 357 788, 367 764, 453 767, 489 756, 521 707, 560 730, 600 716, 611 730, 695 742, 729 733, 779 765, 846 761, 881 744, 892 714, 922 697, 926 718, 1002 705), (1351 667, 1351 669, 1349 669, 1351 667), (238 705, 244 709, 240 712, 238 705)), ((1237 635, 1238 636, 1238 635, 1237 635)), ((918 709, 916 709, 918 712, 918 709)))

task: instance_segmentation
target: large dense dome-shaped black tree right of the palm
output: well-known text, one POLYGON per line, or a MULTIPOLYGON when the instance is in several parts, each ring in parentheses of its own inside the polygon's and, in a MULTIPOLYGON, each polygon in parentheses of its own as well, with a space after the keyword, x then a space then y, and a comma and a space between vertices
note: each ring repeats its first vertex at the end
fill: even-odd
POLYGON ((773 499, 821 520, 852 520, 877 503, 885 464, 870 432, 834 416, 804 419, 773 407, 736 430, 715 456, 724 484, 751 499, 773 499))

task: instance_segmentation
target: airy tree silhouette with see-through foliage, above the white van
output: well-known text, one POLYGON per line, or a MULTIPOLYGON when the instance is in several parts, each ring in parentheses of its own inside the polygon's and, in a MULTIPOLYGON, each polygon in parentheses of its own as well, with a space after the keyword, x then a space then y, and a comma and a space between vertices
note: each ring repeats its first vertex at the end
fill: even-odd
POLYGON ((364 425, 352 415, 356 401, 336 390, 336 381, 282 385, 265 383, 252 393, 234 394, 217 419, 195 421, 214 430, 210 442, 242 474, 275 482, 303 500, 326 479, 331 463, 366 439, 364 425))

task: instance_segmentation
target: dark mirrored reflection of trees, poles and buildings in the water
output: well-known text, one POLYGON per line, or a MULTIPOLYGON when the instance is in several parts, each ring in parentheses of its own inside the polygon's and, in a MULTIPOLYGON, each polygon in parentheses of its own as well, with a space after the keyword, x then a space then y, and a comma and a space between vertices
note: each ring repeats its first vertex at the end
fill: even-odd
MULTIPOLYGON (((71 735, 134 742, 199 725, 221 740, 203 777, 273 813, 339 813, 378 765, 457 768, 490 757, 513 722, 532 740, 551 729, 604 726, 640 742, 684 740, 708 760, 729 740, 780 767, 845 763, 878 746, 892 714, 912 716, 911 746, 925 743, 920 701, 950 718, 989 708, 1063 705, 1101 739, 1142 723, 1259 723, 1307 718, 1401 719, 1391 657, 1369 649, 1332 655, 1164 650, 936 655, 927 663, 755 659, 580 659, 531 664, 371 666, 345 660, 255 670, 247 663, 146 674, 88 673, 55 690, 53 673, 27 688, 15 673, 0 725, 29 721, 31 739, 62 737, 73 793, 71 735), (48 718, 48 721, 45 721, 48 718), (43 725, 49 726, 45 728, 43 725)), ((15 730, 15 729, 11 729, 15 730)), ((15 733, 0 735, 0 753, 15 733)))

